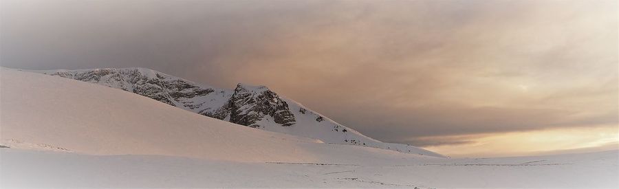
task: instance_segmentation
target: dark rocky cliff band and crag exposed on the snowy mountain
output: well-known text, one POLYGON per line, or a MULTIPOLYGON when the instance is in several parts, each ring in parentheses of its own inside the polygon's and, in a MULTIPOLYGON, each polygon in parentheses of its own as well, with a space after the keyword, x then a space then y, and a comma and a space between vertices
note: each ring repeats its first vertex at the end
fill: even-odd
POLYGON ((257 122, 265 115, 272 117, 273 122, 281 126, 292 126, 296 123, 287 102, 266 87, 239 84, 231 95, 226 91, 213 93, 213 88, 141 68, 56 71, 46 74, 122 89, 211 118, 229 118, 230 122, 254 128, 259 127, 257 122), (209 95, 213 95, 211 101, 224 100, 225 103, 217 107, 204 102, 204 98, 209 95))

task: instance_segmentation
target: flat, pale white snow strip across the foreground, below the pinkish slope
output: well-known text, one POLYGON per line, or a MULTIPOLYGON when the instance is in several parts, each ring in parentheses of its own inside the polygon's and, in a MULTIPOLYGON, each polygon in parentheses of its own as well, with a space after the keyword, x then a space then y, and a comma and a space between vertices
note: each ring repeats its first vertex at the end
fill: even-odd
MULTIPOLYGON (((328 153, 328 152, 325 152, 328 153)), ((271 164, 0 150, 8 187, 619 188, 617 151, 491 159, 271 164)), ((351 154, 355 155, 355 154, 351 154)), ((301 163, 301 162, 299 162, 301 163)))

